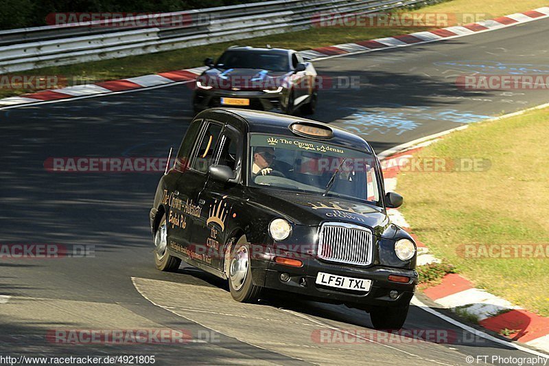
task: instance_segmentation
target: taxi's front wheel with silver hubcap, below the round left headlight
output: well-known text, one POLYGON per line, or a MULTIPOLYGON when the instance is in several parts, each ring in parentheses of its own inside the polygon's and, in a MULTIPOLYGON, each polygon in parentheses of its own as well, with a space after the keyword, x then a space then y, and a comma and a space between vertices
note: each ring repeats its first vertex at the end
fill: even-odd
POLYGON ((246 237, 240 238, 230 249, 227 277, 233 299, 238 302, 253 303, 259 299, 261 287, 253 284, 250 270, 250 245, 243 238, 246 237), (246 255, 242 255, 244 252, 246 255))

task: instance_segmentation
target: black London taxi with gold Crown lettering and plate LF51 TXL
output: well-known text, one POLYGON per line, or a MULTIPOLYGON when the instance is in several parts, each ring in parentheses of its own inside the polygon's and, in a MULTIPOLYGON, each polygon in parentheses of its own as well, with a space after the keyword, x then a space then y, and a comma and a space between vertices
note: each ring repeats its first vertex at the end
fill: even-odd
POLYGON ((211 108, 191 122, 162 176, 150 224, 154 260, 227 279, 236 301, 264 288, 369 312, 401 328, 417 284, 417 249, 387 208, 364 139, 309 119, 211 108))

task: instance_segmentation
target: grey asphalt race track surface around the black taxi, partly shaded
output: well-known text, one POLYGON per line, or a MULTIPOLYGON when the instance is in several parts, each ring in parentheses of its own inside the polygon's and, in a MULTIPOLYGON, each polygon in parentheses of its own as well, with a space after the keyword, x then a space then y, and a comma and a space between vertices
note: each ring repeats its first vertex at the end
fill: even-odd
MULTIPOLYGON (((548 102, 546 91, 471 92, 461 73, 549 73, 549 20, 454 40, 315 62, 358 89, 320 91, 314 119, 366 136, 377 152, 462 124, 548 102), (495 70, 497 67, 497 71, 495 70)), ((207 55, 206 55, 207 56, 207 55)), ((191 120, 191 89, 161 89, 0 111, 1 242, 95 246, 91 258, 0 260, 0 350, 18 356, 155 355, 156 365, 467 365, 466 356, 531 356, 412 307, 405 328, 446 330, 448 343, 383 341, 369 316, 271 295, 239 304, 193 268, 154 268, 148 212, 156 173, 53 173, 49 157, 166 157, 191 120), (9 297, 11 296, 11 297, 9 297), (186 344, 62 345, 47 330, 188 330, 186 344), (373 340, 323 343, 321 330, 373 340)), ((443 310, 441 310, 443 311, 443 310)))

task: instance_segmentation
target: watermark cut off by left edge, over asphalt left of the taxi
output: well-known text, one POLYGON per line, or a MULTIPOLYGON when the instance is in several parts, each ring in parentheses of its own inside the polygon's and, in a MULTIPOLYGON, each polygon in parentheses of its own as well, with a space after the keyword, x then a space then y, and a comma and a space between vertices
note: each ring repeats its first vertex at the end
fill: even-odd
POLYGON ((0 259, 95 258, 93 244, 0 244, 0 259))

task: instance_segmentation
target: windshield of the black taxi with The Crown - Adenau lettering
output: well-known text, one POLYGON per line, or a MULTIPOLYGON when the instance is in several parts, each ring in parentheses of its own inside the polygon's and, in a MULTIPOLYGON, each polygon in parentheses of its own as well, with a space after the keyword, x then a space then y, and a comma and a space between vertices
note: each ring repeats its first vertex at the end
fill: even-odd
POLYGON ((379 202, 375 157, 318 139, 250 137, 250 186, 379 202))

